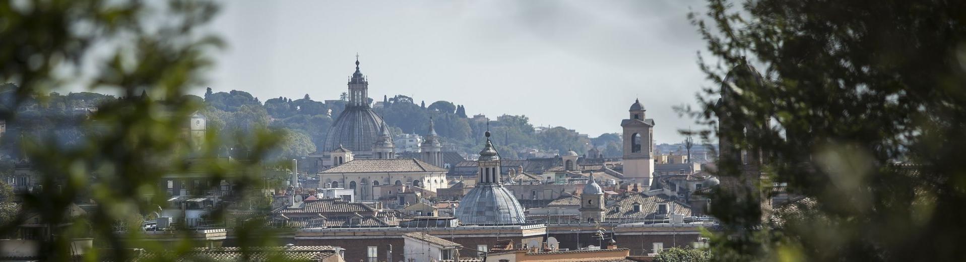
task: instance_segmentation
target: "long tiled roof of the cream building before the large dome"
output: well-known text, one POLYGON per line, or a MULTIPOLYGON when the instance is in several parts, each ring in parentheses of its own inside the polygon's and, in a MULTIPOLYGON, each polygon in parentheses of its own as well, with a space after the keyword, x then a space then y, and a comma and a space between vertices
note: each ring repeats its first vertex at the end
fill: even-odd
POLYGON ((416 159, 351 160, 319 173, 373 173, 373 172, 446 172, 445 168, 416 159))

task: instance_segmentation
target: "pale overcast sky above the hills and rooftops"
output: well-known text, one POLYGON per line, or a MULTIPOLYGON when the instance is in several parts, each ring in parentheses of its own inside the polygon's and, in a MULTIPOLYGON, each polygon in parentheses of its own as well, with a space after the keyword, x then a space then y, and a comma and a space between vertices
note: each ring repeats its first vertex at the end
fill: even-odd
MULTIPOLYGON (((228 1, 215 92, 316 101, 346 91, 355 53, 369 95, 526 115, 534 126, 619 132, 639 98, 674 143, 692 121, 671 106, 706 85, 687 19, 696 1, 228 1)), ((203 89, 198 93, 204 92, 203 89)))

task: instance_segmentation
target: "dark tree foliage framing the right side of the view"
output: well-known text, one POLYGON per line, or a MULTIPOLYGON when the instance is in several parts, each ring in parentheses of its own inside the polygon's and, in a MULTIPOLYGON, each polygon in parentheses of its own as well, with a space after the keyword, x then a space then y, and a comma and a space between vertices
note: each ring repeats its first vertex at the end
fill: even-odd
MULTIPOLYGON (((954 226, 966 219, 966 160, 958 153, 966 148, 966 2, 707 6, 689 17, 709 51, 698 64, 715 86, 698 95, 697 108, 681 111, 707 125, 707 142, 724 135, 738 149, 760 149, 771 183, 807 199, 778 205, 769 217, 757 199, 719 190, 711 207, 723 222, 712 236, 714 259, 966 256, 956 247, 966 230, 954 226), (725 82, 746 61, 763 81, 738 72, 725 82)), ((719 175, 737 176, 738 161, 720 158, 719 175)), ((771 185, 759 186, 768 192, 771 185)))

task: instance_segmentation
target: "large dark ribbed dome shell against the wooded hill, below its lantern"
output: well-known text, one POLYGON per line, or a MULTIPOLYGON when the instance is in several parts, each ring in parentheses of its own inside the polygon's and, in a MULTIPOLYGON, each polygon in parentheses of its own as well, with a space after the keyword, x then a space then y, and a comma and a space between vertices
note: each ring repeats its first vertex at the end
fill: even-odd
POLYGON ((388 131, 389 127, 372 109, 346 106, 346 110, 342 111, 328 129, 323 152, 331 151, 342 144, 356 154, 365 155, 372 152, 383 129, 388 131))

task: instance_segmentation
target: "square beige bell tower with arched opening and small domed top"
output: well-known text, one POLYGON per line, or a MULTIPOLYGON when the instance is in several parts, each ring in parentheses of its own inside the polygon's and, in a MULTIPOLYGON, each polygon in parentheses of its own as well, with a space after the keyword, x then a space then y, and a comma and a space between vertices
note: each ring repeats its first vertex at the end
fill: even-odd
POLYGON ((654 120, 644 115, 639 100, 631 104, 630 118, 620 122, 624 131, 624 177, 650 185, 654 175, 654 120))

